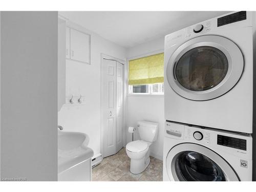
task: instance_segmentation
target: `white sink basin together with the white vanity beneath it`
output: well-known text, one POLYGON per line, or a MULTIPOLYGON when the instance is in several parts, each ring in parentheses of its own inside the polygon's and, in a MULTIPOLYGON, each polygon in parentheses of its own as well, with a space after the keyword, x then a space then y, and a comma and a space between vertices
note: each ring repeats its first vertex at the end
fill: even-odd
POLYGON ((89 137, 58 130, 58 181, 90 181, 93 151, 89 137))

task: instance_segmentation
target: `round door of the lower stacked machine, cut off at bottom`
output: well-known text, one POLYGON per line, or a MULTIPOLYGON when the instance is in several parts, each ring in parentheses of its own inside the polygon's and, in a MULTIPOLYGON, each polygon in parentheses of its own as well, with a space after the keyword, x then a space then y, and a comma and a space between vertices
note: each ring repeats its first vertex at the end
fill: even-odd
POLYGON ((166 170, 171 181, 240 181, 221 156, 195 143, 174 146, 167 155, 166 170))

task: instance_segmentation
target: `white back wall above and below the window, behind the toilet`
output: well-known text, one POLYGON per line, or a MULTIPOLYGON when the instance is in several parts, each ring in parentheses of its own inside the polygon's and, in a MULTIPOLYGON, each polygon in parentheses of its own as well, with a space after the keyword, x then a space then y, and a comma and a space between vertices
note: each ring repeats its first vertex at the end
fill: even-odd
MULTIPOLYGON (((147 42, 127 51, 127 58, 140 57, 154 54, 164 50, 164 37, 147 42)), ((163 158, 163 133, 164 133, 164 97, 163 95, 128 95, 126 130, 129 126, 136 127, 137 121, 147 120, 159 123, 157 141, 152 144, 151 155, 158 159, 163 158)), ((126 131, 126 142, 132 140, 132 134, 126 131)), ((138 131, 135 140, 139 139, 138 131)))

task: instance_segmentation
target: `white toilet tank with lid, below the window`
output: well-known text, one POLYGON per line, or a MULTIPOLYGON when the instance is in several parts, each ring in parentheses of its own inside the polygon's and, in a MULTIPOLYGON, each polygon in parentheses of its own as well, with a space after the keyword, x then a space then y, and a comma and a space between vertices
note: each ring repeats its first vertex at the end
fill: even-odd
POLYGON ((158 123, 150 121, 138 121, 140 138, 147 142, 154 142, 157 139, 158 123))

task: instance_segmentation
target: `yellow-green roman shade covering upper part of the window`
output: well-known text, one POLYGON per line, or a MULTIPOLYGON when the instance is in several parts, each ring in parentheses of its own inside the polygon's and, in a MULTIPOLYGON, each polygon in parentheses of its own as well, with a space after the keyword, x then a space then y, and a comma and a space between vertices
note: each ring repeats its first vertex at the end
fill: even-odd
POLYGON ((129 61, 129 84, 163 82, 164 54, 159 53, 129 61))

